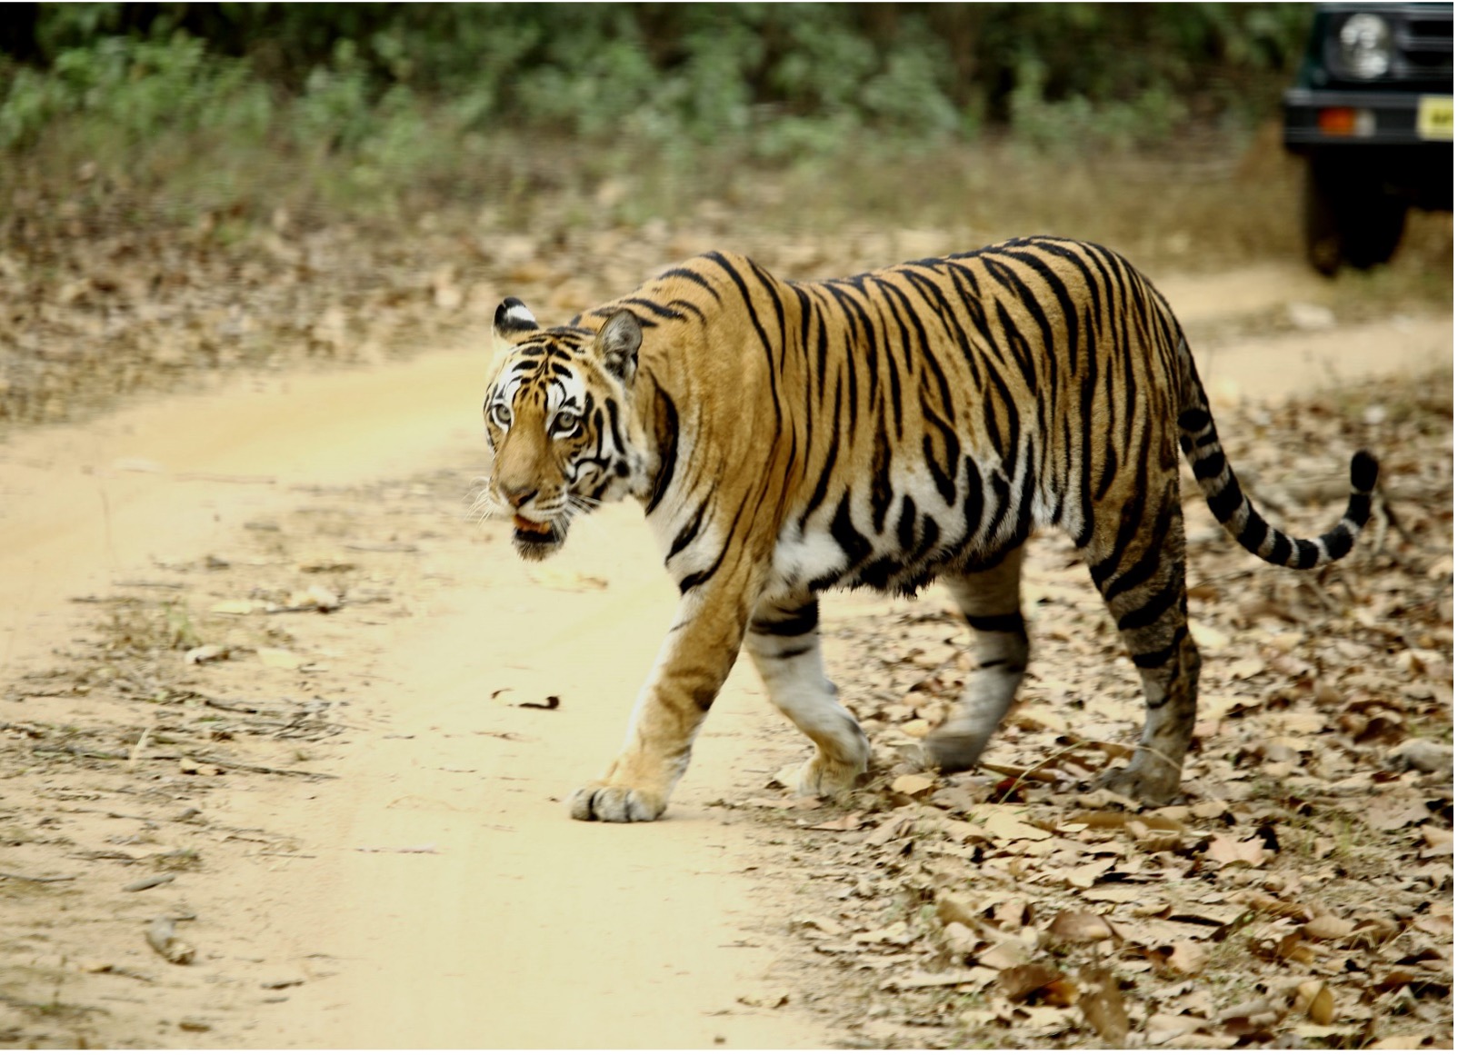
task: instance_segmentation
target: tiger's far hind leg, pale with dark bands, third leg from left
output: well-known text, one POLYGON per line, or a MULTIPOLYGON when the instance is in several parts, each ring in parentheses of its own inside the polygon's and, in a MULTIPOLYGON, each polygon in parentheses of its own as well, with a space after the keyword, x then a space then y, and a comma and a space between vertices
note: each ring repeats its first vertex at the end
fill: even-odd
POLYGON ((972 628, 977 666, 956 708, 924 740, 937 769, 971 769, 997 732, 1028 669, 1028 630, 1022 621, 1019 583, 1022 546, 983 571, 945 577, 952 599, 972 628))

